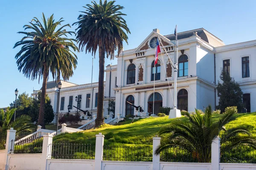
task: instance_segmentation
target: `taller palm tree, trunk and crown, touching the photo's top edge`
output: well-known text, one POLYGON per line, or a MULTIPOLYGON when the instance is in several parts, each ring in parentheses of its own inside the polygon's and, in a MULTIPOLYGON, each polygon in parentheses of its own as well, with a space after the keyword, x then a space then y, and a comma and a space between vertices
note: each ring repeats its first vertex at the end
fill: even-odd
POLYGON ((120 10, 124 7, 114 5, 115 1, 106 0, 102 3, 102 0, 97 4, 95 1, 93 4, 87 4, 78 17, 78 22, 73 25, 78 25, 76 28, 76 39, 79 41, 79 49, 85 52, 92 52, 92 55, 96 54, 99 47, 99 93, 98 93, 98 106, 97 106, 97 118, 96 127, 104 123, 103 116, 103 97, 104 97, 104 63, 105 54, 110 59, 114 58, 115 50, 118 49, 118 54, 122 50, 123 41, 127 44, 128 36, 130 33, 127 27, 126 21, 122 16, 120 10), (125 33, 126 31, 126 33, 125 33))

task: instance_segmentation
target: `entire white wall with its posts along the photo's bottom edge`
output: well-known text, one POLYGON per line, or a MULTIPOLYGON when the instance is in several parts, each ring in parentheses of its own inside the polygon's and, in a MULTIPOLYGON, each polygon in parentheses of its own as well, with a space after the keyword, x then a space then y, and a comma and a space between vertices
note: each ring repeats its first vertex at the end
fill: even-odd
MULTIPOLYGON (((103 160, 104 135, 96 135, 93 159, 53 159, 52 135, 44 135, 42 153, 13 154, 16 130, 7 130, 6 149, 0 150, 0 170, 256 170, 256 164, 220 163, 220 139, 212 141, 211 163, 160 162, 160 155, 153 154, 153 161, 103 160)), ((153 138, 152 153, 160 144, 160 137, 153 138)), ((76 146, 76 145, 75 145, 76 146)))

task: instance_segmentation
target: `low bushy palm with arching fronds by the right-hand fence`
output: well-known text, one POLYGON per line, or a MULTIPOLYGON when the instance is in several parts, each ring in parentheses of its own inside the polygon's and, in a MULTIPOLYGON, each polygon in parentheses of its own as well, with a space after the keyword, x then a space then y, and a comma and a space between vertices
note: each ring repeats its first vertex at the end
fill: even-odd
POLYGON ((212 109, 208 106, 205 113, 195 110, 195 114, 185 112, 186 119, 177 119, 170 125, 162 127, 160 135, 166 134, 155 154, 171 147, 181 147, 193 153, 200 162, 211 161, 212 140, 220 136, 221 153, 239 145, 248 145, 256 149, 256 140, 246 127, 225 128, 225 125, 234 120, 236 109, 226 109, 224 115, 217 122, 212 122, 212 109))

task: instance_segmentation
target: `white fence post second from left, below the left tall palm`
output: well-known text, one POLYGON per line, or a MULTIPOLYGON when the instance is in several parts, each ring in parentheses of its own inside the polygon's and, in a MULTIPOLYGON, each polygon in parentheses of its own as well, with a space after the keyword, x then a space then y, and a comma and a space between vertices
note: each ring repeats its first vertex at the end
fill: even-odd
POLYGON ((41 170, 46 170, 47 159, 51 159, 52 155, 52 135, 44 135, 42 157, 41 157, 41 170))

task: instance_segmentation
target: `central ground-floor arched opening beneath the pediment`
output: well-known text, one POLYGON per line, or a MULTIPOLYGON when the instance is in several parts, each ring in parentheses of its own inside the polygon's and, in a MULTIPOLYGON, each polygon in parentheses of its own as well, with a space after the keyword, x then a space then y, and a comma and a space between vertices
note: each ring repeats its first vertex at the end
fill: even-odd
POLYGON ((163 98, 160 93, 151 94, 148 99, 148 113, 153 113, 153 99, 154 99, 154 114, 159 113, 160 107, 163 106, 163 98))

